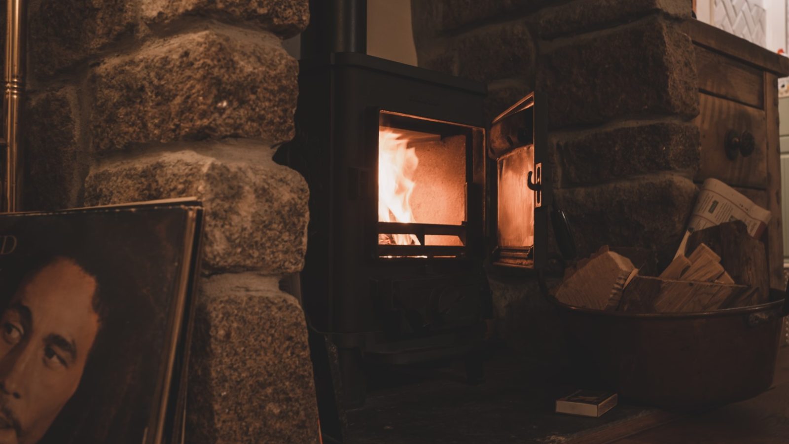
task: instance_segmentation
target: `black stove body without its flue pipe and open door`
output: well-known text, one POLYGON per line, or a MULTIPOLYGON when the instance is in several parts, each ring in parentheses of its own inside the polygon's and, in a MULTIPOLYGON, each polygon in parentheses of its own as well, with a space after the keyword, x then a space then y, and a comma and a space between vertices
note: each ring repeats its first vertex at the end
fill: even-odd
POLYGON ((481 340, 488 305, 485 92, 470 81, 352 52, 301 63, 297 137, 286 149, 311 194, 302 298, 312 326, 338 346, 346 401, 360 401, 351 386, 361 381, 354 367, 363 356, 406 363, 470 352, 481 340), (431 216, 446 222, 461 213, 461 220, 380 220, 380 131, 387 130, 426 139, 436 162, 451 157, 445 161, 453 177, 443 185, 452 215, 431 216), (453 146, 441 146, 447 140, 453 146), (392 235, 417 242, 388 243, 392 235))

